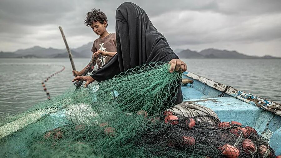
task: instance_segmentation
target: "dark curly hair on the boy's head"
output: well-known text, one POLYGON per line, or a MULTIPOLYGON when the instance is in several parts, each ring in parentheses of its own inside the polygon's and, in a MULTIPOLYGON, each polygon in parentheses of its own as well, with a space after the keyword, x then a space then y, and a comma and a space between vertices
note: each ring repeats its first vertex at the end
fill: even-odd
MULTIPOLYGON (((85 18, 85 24, 86 26, 91 26, 93 24, 93 22, 101 22, 103 23, 104 21, 107 22, 107 17, 105 15, 105 13, 103 13, 101 11, 101 9, 92 9, 91 12, 88 12, 86 14, 86 18, 85 18)), ((106 27, 108 26, 108 24, 106 25, 106 27)))

